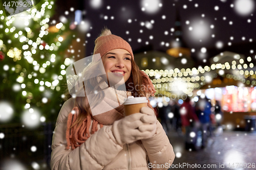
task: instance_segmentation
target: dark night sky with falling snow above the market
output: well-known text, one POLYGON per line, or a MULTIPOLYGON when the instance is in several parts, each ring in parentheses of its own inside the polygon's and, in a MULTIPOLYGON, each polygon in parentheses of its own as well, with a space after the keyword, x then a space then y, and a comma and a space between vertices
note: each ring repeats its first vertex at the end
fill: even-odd
POLYGON ((94 40, 104 26, 128 41, 134 52, 148 46, 165 52, 175 40, 172 28, 175 28, 177 9, 183 39, 189 48, 195 49, 193 56, 198 60, 212 57, 207 53, 200 57, 202 47, 207 51, 214 48, 221 51, 227 46, 256 40, 255 1, 250 0, 92 0, 84 6, 84 19, 91 27, 86 38, 86 56, 92 55, 94 40), (148 12, 151 9, 155 12, 148 12))

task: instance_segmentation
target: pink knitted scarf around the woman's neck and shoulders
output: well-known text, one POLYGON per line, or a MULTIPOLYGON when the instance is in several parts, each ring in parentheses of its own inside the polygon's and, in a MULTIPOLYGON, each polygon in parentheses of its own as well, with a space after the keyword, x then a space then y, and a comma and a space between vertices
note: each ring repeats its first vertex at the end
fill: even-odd
MULTIPOLYGON (((143 84, 147 87, 146 92, 148 94, 151 94, 154 96, 154 93, 156 92, 150 78, 145 74, 145 72, 140 71, 142 77, 143 77, 143 84), (150 86, 147 86, 150 85, 150 86), (150 88, 151 87, 151 88, 150 88)), ((106 85, 106 84, 105 84, 106 85)), ((91 135, 94 134, 98 130, 98 124, 100 125, 100 128, 103 127, 103 125, 112 125, 115 120, 119 120, 124 117, 124 106, 120 105, 120 103, 123 103, 126 99, 127 95, 131 95, 131 93, 126 91, 120 91, 116 90, 117 96, 119 99, 119 106, 117 106, 116 103, 116 93, 113 91, 113 88, 108 88, 107 90, 104 90, 104 93, 107 93, 107 97, 105 97, 101 103, 92 109, 92 112, 100 112, 101 114, 94 114, 92 115, 92 112, 87 115, 87 117, 82 121, 82 123, 77 126, 71 126, 76 121, 78 115, 79 115, 79 109, 77 107, 74 107, 72 111, 68 115, 67 120, 67 131, 66 131, 66 139, 67 139, 67 147, 66 149, 69 149, 71 147, 72 150, 79 147, 83 142, 85 142, 91 135), (100 107, 99 107, 100 106, 100 107), (103 112, 102 109, 106 109, 109 111, 103 112), (115 108, 111 109, 110 108, 115 108), (91 132, 90 132, 91 127, 91 132)), ((150 101, 148 100, 148 106, 150 105, 150 101)))

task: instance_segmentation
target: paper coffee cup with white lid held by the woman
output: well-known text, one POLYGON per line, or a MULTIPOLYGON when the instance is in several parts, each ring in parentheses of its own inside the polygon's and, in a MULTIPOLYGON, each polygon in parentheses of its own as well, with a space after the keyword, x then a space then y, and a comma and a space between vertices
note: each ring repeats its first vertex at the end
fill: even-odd
POLYGON ((128 96, 124 105, 124 114, 129 116, 134 113, 139 113, 142 107, 147 106, 147 99, 145 97, 134 98, 134 96, 128 96))

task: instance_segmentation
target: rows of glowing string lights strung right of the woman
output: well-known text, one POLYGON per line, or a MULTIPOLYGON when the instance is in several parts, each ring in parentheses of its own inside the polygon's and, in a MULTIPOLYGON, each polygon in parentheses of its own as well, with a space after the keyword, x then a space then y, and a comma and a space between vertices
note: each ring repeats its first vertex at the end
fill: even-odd
MULTIPOLYGON (((247 61, 251 61, 250 57, 247 58, 247 61)), ((160 87, 160 83, 164 83, 164 82, 176 82, 176 81, 179 81, 179 82, 184 82, 187 84, 186 88, 182 89, 182 91, 186 94, 191 94, 191 92, 194 90, 194 88, 199 88, 200 86, 203 86, 206 84, 206 82, 211 82, 213 78, 216 78, 217 75, 216 74, 213 74, 211 76, 197 76, 199 74, 204 74, 205 71, 209 72, 210 70, 215 70, 218 71, 219 69, 221 70, 224 70, 224 69, 227 69, 229 70, 230 68, 233 69, 233 71, 235 71, 235 74, 238 75, 238 76, 230 76, 229 74, 226 75, 226 78, 228 79, 234 79, 234 80, 240 80, 242 83, 246 83, 246 84, 252 84, 254 85, 256 82, 255 81, 249 81, 249 80, 245 80, 245 79, 242 79, 240 78, 240 75, 244 75, 245 78, 249 77, 249 76, 252 76, 252 77, 256 77, 256 75, 254 75, 254 72, 253 70, 243 70, 244 69, 247 69, 248 68, 248 65, 247 64, 243 64, 244 63, 244 60, 243 59, 240 59, 239 60, 239 63, 238 65, 236 61, 232 61, 231 63, 229 62, 225 62, 224 64, 221 64, 221 63, 217 63, 217 64, 211 64, 211 66, 205 66, 204 68, 203 67, 198 67, 197 68, 192 68, 190 70, 190 68, 181 68, 180 70, 178 68, 175 68, 174 70, 170 69, 170 70, 165 70, 163 72, 163 70, 149 70, 149 69, 146 69, 146 74, 151 76, 151 75, 154 75, 154 74, 158 74, 159 76, 161 75, 163 78, 159 77, 157 80, 156 79, 153 79, 153 84, 156 88, 159 88, 160 87), (242 65, 243 64, 243 67, 242 65), (231 66, 230 66, 231 65, 231 66), (235 70, 236 68, 240 69, 239 70, 235 70), (153 72, 154 74, 153 74, 153 72), (165 74, 167 73, 167 74, 165 74), (187 77, 187 76, 195 76, 195 77, 187 77), (187 77, 187 78, 185 78, 187 77), (165 78, 165 79, 164 79, 165 78), (201 83, 190 83, 191 82, 199 82, 201 81, 201 83), (188 88, 187 88, 188 87, 188 88)), ((254 65, 253 63, 249 63, 249 67, 252 68, 254 65)), ((224 72, 225 73, 225 72, 224 72)), ((255 71, 255 74, 256 74, 256 71, 255 71)), ((152 76, 151 76, 152 77, 152 76)), ((164 83, 166 84, 166 83, 164 83)), ((161 86, 162 87, 162 86, 161 86)), ((169 83, 169 86, 161 89, 161 91, 159 91, 158 93, 163 93, 164 91, 175 91, 175 89, 173 88, 175 87, 175 84, 173 83, 169 83)), ((179 88, 179 87, 177 87, 179 88)))

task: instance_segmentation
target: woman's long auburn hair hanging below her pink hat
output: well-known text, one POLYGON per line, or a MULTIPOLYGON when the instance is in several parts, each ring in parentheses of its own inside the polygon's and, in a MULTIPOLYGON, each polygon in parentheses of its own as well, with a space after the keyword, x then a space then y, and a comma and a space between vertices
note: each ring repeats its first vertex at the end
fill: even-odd
MULTIPOLYGON (((147 79, 147 78, 142 77, 139 67, 136 64, 136 62, 134 61, 134 59, 131 59, 131 63, 132 63, 131 76, 125 82, 126 91, 130 91, 134 97, 138 97, 138 96, 148 97, 149 94, 146 93, 146 90, 143 90, 143 89, 146 89, 143 82, 146 82, 147 80, 145 80, 145 79, 147 79)), ((93 77, 93 75, 95 74, 95 70, 100 71, 98 64, 99 64, 99 62, 90 63, 82 71, 82 76, 87 75, 88 77, 90 77, 90 76, 93 77)), ((98 77, 99 76, 94 77, 94 78, 90 79, 89 81, 84 82, 83 86, 79 87, 77 93, 79 93, 79 94, 84 93, 85 96, 75 96, 74 107, 78 108, 79 115, 71 127, 74 127, 75 125, 77 125, 77 126, 81 125, 82 121, 87 118, 87 115, 91 114, 91 108, 90 108, 89 101, 88 101, 88 98, 87 98, 87 95, 86 95, 84 89, 89 89, 89 90, 87 90, 87 92, 88 91, 93 92, 95 90, 99 91, 97 94, 95 94, 95 96, 93 98, 93 102, 92 102, 92 103, 94 103, 93 107, 97 106, 97 104, 99 104, 103 100, 105 95, 104 95, 103 90, 99 87, 99 84, 105 80, 101 79, 101 81, 98 82, 98 77)), ((64 100, 67 101, 70 98, 72 98, 72 95, 70 94, 68 88, 66 88, 64 100)), ((148 102, 148 106, 153 109, 153 107, 150 105, 149 102, 148 102)))

